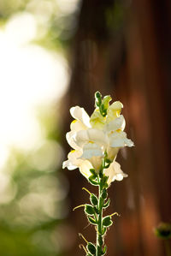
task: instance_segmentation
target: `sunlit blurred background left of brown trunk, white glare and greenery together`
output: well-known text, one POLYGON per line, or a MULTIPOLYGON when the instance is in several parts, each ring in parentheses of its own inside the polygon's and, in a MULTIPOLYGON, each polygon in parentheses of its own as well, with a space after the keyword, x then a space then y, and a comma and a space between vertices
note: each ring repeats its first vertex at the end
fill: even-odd
POLYGON ((68 252, 61 101, 78 1, 0 2, 0 255, 68 252))

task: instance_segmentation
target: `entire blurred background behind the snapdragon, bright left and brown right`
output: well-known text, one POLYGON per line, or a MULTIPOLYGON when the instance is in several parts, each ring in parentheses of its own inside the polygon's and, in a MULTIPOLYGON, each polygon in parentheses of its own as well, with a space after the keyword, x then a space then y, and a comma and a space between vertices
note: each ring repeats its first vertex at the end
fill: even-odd
POLYGON ((135 147, 109 188, 118 211, 109 256, 162 256, 153 232, 171 222, 171 3, 158 0, 0 1, 0 255, 84 255, 78 170, 62 170, 69 108, 91 115, 94 92, 124 104, 135 147))

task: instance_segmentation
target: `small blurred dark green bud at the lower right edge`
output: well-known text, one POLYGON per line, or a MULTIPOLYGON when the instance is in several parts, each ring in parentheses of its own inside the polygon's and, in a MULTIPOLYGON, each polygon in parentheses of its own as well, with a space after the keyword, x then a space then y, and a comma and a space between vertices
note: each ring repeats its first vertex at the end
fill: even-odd
POLYGON ((171 238, 171 223, 159 223, 154 232, 161 239, 171 238))

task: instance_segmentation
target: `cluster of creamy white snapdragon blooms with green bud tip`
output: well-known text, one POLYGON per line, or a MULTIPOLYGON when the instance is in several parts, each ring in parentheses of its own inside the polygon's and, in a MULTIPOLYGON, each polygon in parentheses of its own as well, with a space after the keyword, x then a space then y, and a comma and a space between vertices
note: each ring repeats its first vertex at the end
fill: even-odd
POLYGON ((96 92, 95 98, 96 109, 91 117, 80 106, 70 109, 74 121, 66 137, 74 150, 68 153, 68 160, 63 162, 62 168, 79 168, 80 173, 90 180, 93 173, 98 175, 105 159, 107 165, 103 174, 108 177, 107 183, 110 185, 115 180, 121 181, 127 177, 115 158, 121 147, 133 146, 133 141, 127 139, 124 132, 126 122, 121 115, 121 102, 109 104, 111 97, 102 98, 99 92, 96 92))

